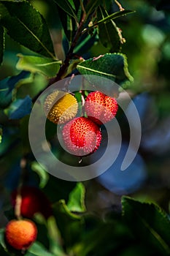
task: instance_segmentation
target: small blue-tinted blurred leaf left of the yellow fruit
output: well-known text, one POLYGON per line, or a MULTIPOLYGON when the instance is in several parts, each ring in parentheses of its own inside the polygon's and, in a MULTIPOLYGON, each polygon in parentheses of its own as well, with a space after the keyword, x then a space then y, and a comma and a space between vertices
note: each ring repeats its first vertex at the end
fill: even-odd
POLYGON ((16 99, 7 109, 9 119, 20 119, 31 113, 32 101, 29 96, 24 99, 16 99))

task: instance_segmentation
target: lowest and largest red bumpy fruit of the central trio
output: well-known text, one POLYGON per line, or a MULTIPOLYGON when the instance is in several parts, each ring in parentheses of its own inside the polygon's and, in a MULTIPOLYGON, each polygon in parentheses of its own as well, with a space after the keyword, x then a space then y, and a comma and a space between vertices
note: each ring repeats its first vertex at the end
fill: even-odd
POLYGON ((101 130, 89 118, 78 117, 63 127, 62 137, 66 149, 71 154, 82 157, 98 149, 101 143, 101 130))

